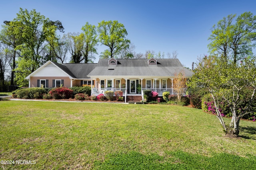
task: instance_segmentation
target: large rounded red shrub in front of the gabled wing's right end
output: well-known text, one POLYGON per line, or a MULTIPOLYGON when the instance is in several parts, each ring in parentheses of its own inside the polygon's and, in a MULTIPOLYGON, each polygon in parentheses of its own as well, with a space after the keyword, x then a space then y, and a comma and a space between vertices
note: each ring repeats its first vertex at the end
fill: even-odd
POLYGON ((70 90, 67 87, 58 87, 58 88, 53 88, 49 94, 52 96, 54 99, 69 99, 72 98, 73 90, 70 90))

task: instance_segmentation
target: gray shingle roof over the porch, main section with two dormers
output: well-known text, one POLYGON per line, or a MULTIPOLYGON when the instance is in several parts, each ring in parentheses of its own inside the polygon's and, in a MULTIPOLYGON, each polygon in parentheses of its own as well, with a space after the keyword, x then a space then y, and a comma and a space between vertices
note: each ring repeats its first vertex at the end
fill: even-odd
POLYGON ((148 64, 148 59, 117 59, 116 65, 109 65, 108 60, 100 59, 88 76, 174 76, 181 70, 184 70, 185 76, 193 74, 178 59, 156 59, 157 64, 148 64))

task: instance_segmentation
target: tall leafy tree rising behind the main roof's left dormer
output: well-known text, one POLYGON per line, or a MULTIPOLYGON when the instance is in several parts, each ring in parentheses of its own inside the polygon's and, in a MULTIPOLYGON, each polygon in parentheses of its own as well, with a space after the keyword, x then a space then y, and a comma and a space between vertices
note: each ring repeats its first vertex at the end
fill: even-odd
POLYGON ((123 49, 129 48, 130 40, 124 25, 118 21, 101 21, 98 24, 99 41, 102 45, 109 47, 104 51, 104 55, 110 58, 116 57, 123 49))

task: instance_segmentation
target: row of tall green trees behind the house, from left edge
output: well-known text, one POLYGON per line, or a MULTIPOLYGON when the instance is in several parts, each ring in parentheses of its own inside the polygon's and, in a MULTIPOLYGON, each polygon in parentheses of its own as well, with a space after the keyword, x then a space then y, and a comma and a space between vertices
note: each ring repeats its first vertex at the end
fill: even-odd
POLYGON ((36 10, 20 8, 16 18, 4 21, 0 30, 0 91, 8 85, 28 86, 25 77, 46 61, 56 63, 93 63, 100 58, 176 58, 154 51, 136 53, 126 38, 124 25, 118 21, 101 21, 98 26, 88 22, 81 33, 65 33, 61 21, 52 21, 36 10), (60 35, 62 34, 62 36, 60 35), (97 46, 105 45, 98 53, 97 46))

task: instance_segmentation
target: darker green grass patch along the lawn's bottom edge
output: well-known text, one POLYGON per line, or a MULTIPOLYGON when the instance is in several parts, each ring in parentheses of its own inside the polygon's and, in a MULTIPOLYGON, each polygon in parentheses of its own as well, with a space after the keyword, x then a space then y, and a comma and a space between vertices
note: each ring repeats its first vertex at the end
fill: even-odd
POLYGON ((250 170, 256 167, 256 156, 248 158, 220 153, 212 157, 191 154, 183 151, 144 155, 139 152, 108 155, 104 162, 95 162, 97 170, 250 170))

